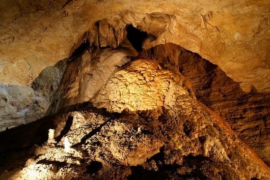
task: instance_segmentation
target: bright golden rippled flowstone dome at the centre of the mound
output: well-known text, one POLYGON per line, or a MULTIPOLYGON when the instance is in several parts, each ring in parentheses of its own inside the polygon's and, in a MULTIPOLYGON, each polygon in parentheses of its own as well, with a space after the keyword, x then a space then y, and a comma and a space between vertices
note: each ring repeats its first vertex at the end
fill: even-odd
POLYGON ((175 98, 168 94, 171 88, 189 94, 182 87, 184 79, 162 69, 156 60, 135 60, 117 71, 92 101, 95 106, 111 112, 153 110, 164 106, 165 99, 169 105, 168 98, 175 98))

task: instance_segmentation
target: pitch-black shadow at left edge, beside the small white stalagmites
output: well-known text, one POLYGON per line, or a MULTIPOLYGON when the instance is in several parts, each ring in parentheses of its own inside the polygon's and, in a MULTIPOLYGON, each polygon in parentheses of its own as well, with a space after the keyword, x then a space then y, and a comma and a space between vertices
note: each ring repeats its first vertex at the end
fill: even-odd
POLYGON ((49 129, 55 127, 54 117, 48 116, 0 132, 0 174, 23 167, 29 158, 34 159, 34 149, 29 147, 47 141, 49 129))

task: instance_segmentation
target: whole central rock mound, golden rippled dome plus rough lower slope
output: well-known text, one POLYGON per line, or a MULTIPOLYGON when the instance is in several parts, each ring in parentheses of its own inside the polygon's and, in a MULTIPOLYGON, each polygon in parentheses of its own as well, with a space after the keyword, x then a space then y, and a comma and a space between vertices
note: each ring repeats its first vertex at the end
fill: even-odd
POLYGON ((269 168, 225 120, 197 101, 184 80, 156 60, 138 59, 116 69, 94 95, 94 103, 114 113, 93 107, 82 111, 84 104, 81 110, 0 132, 5 145, 0 152, 6 152, 33 145, 48 137, 49 128, 55 130, 43 144, 4 153, 0 179, 122 180, 148 173, 144 179, 156 174, 162 175, 157 179, 268 180, 269 168), (115 113, 123 105, 137 109, 115 113), (135 112, 142 108, 159 108, 162 114, 153 118, 135 112))

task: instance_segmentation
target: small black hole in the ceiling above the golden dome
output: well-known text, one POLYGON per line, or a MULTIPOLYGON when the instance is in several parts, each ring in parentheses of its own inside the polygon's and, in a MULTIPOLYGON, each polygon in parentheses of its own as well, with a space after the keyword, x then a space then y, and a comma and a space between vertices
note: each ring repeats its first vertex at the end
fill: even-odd
POLYGON ((147 37, 147 32, 141 31, 136 29, 134 26, 132 25, 128 25, 126 27, 127 29, 127 38, 130 41, 130 43, 133 45, 133 47, 138 51, 141 52, 142 51, 142 42, 145 39, 145 37, 147 37))

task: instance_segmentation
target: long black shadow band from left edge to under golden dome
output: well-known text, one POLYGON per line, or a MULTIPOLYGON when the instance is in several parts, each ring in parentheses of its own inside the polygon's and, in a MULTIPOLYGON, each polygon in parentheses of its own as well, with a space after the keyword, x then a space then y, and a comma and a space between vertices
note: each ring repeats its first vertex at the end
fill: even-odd
MULTIPOLYGON (((109 113, 104 108, 93 107, 90 102, 75 104, 61 109, 57 114, 43 117, 28 124, 22 124, 5 131, 0 132, 0 157, 11 150, 24 150, 32 147, 34 144, 41 145, 48 140, 49 129, 56 129, 60 121, 55 118, 67 112, 74 111, 90 111, 102 114, 108 117, 109 120, 118 118, 121 114, 109 113)), ((66 134, 67 129, 72 125, 73 117, 61 119, 64 121, 65 127, 62 129, 61 134, 66 134), (64 130, 65 129, 65 130, 64 130)), ((61 121, 61 123, 62 123, 61 121)), ((94 133, 94 132, 92 132, 94 133)), ((91 136, 91 133, 90 135, 91 136)))

